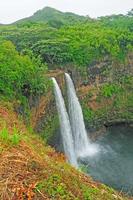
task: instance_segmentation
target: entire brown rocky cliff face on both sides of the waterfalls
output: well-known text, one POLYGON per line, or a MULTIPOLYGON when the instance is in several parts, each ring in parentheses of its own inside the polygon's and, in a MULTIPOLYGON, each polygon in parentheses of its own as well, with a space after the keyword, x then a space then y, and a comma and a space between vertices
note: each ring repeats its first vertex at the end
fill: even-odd
MULTIPOLYGON (((133 53, 128 54, 124 63, 106 57, 89 66, 87 72, 81 73, 74 66, 66 66, 66 71, 77 88, 86 126, 132 122, 133 53)), ((48 76, 56 77, 65 97, 64 71, 51 70, 48 76)), ((31 124, 47 141, 59 130, 53 88, 32 106, 31 124)))

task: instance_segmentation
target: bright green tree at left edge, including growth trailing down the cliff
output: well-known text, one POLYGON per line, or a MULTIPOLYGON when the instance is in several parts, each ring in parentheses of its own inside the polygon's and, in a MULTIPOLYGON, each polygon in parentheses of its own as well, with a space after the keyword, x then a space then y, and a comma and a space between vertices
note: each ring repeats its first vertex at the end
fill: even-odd
POLYGON ((28 54, 18 53, 11 41, 0 41, 0 98, 14 102, 29 123, 32 99, 45 95, 51 82, 46 77, 47 66, 28 54))

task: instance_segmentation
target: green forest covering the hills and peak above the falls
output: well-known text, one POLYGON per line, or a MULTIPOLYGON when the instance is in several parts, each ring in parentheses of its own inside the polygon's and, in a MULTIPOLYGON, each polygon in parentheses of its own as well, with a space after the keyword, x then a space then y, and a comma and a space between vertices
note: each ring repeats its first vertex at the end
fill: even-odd
POLYGON ((69 18, 68 13, 45 8, 30 18, 1 26, 0 36, 11 40, 19 52, 30 49, 48 65, 61 67, 71 63, 82 70, 104 56, 124 61, 133 49, 132 27, 131 11, 127 15, 90 19, 76 15, 69 18), (66 21, 59 26, 62 18, 66 21), (56 22, 52 25, 48 19, 56 22))

